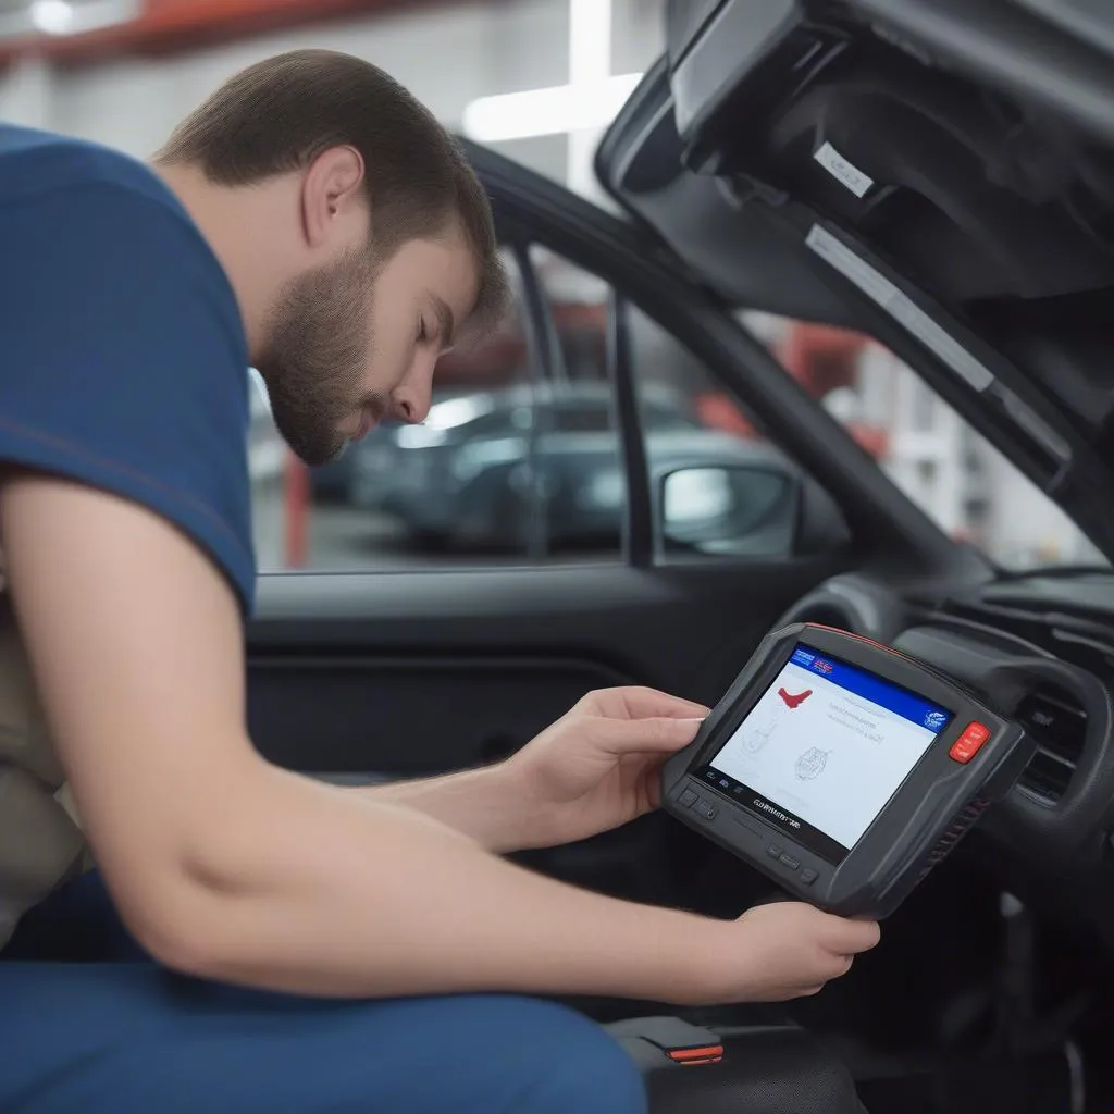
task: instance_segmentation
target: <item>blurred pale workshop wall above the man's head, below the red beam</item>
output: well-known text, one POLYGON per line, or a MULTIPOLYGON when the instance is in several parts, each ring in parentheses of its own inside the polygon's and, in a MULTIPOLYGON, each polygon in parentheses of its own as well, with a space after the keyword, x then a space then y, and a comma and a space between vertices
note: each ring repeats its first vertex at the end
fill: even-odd
MULTIPOLYGON (((614 0, 615 72, 662 49, 663 0, 614 0)), ((344 50, 382 66, 450 127, 477 97, 568 80, 568 0, 473 0, 429 11, 297 27, 172 58, 53 70, 26 61, 0 75, 0 119, 81 136, 147 157, 225 78, 299 47, 344 50)), ((564 180, 565 136, 494 145, 564 180)))

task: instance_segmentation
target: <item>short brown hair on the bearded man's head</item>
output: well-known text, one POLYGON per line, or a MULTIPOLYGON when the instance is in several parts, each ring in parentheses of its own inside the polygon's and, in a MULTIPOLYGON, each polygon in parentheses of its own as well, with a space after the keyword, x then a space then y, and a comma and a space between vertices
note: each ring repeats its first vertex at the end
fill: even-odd
POLYGON ((155 158, 197 166, 218 185, 246 186, 305 167, 338 146, 363 158, 381 261, 410 240, 459 223, 480 268, 470 324, 492 328, 507 277, 483 187, 456 139, 371 62, 295 50, 251 66, 186 117, 155 158))

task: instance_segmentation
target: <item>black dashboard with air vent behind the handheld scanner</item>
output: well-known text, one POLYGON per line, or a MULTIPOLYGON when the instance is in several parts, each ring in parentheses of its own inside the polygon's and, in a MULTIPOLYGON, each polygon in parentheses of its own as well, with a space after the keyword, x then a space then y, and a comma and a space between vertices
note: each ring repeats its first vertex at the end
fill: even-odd
POLYGON ((1036 756, 984 818, 973 853, 1004 888, 1114 950, 1114 574, 900 590, 853 574, 782 622, 888 643, 1020 722, 1036 756))

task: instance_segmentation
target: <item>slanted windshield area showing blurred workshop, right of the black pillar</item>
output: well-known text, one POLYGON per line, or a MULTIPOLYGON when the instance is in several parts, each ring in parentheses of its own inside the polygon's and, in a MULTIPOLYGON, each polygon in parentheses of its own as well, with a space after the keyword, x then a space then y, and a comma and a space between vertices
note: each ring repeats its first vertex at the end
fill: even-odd
POLYGON ((948 535, 1009 571, 1110 566, 1048 496, 874 340, 765 313, 740 319, 948 535))

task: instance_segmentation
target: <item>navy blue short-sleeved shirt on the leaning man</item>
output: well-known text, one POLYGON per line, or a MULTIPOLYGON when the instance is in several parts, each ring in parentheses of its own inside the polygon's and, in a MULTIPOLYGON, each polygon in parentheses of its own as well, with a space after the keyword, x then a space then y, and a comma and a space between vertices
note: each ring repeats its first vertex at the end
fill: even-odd
POLYGON ((157 175, 0 125, 0 460, 167 518, 245 614, 247 364, 227 276, 157 175))

